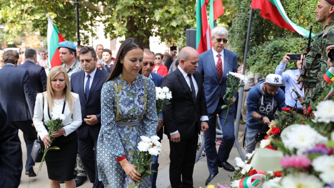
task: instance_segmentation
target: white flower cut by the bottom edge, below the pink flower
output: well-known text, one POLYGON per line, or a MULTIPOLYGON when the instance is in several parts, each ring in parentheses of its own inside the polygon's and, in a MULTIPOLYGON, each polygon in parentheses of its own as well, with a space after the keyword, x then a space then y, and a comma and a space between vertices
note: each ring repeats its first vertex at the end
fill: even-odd
POLYGON ((314 175, 306 173, 289 174, 282 178, 282 188, 322 188, 323 183, 314 175))

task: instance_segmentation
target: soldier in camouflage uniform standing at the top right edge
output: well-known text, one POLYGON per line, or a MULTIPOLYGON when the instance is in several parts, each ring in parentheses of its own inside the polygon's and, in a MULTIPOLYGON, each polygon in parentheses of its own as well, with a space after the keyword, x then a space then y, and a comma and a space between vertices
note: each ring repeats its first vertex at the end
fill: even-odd
MULTIPOLYGON (((312 38, 313 45, 304 61, 305 73, 299 81, 304 83, 306 108, 313 103, 316 93, 319 93, 327 82, 323 75, 328 70, 326 47, 334 44, 334 12, 330 8, 334 6, 334 0, 321 0, 315 9, 316 21, 324 26, 320 32, 312 38)), ((306 109, 304 108, 306 115, 306 109)))

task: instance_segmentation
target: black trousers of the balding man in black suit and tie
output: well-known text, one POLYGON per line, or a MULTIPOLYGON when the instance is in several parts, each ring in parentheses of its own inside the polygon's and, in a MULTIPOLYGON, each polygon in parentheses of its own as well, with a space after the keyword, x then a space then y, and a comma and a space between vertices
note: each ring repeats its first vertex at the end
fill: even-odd
POLYGON ((169 140, 169 180, 172 188, 193 188, 192 174, 198 143, 198 131, 195 129, 195 125, 193 129, 194 134, 189 139, 177 143, 169 140))

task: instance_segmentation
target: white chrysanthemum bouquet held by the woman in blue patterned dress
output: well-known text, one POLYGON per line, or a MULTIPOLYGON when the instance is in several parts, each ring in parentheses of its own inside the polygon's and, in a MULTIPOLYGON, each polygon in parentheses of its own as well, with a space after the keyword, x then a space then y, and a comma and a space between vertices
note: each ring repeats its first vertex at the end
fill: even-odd
POLYGON ((138 152, 135 153, 135 158, 131 159, 133 165, 136 166, 137 172, 141 175, 140 182, 133 184, 132 188, 138 187, 141 181, 151 176, 155 170, 150 170, 150 164, 152 164, 152 157, 159 155, 161 151, 161 143, 158 136, 152 136, 151 138, 146 136, 140 136, 140 141, 137 145, 138 152))

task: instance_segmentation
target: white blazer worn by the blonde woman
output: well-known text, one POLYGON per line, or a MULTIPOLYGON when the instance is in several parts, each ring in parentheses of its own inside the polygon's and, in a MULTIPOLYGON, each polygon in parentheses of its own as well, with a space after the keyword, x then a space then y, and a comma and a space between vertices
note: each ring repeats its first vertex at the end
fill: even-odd
MULTIPOLYGON (((72 96, 75 98, 73 101, 73 114, 70 113, 68 103, 65 105, 64 115, 65 115, 65 121, 62 123, 64 124, 65 133, 64 136, 67 136, 71 134, 73 131, 75 131, 82 123, 81 118, 81 107, 80 107, 80 100, 79 95, 76 93, 71 92, 72 96)), ((32 119, 34 126, 38 132, 38 135, 43 139, 45 135, 48 135, 48 131, 45 129, 43 125, 43 93, 38 93, 36 96, 36 103, 35 103, 35 110, 34 110, 34 117, 32 119)), ((61 108, 55 108, 55 104, 53 105, 52 112, 62 112, 63 105, 58 105, 61 108)), ((58 107, 57 106, 57 107, 58 107)), ((44 122, 49 121, 50 118, 48 116, 47 111, 47 97, 44 96, 44 122)))

